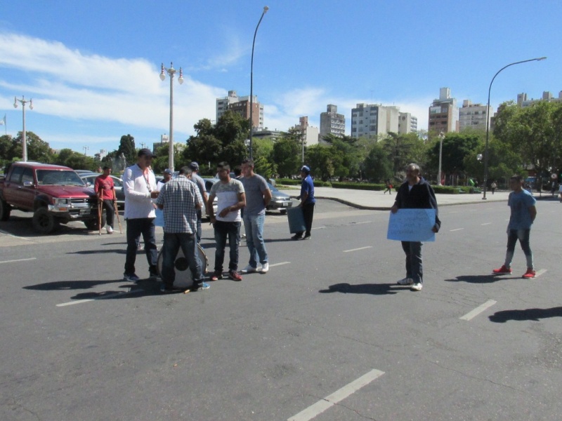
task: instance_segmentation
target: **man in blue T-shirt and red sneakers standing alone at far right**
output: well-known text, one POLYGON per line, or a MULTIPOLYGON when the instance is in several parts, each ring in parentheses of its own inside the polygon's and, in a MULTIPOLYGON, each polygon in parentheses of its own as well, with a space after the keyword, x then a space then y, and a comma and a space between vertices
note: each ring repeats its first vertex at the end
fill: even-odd
POLYGON ((492 272, 497 275, 511 274, 511 260, 514 258, 515 244, 517 240, 521 243, 523 253, 527 259, 527 272, 523 278, 535 277, 535 268, 532 264, 532 251, 529 246, 529 236, 532 222, 537 217, 537 200, 527 190, 523 189, 523 177, 514 175, 509 179, 509 187, 513 190, 509 193, 507 205, 511 208, 509 225, 507 226, 507 252, 505 262, 499 269, 492 272))

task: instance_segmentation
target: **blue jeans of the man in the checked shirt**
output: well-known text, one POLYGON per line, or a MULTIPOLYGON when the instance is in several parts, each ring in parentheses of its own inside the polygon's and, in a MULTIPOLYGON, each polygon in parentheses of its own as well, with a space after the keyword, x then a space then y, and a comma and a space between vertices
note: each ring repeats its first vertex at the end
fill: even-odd
MULTIPOLYGON (((162 281, 168 288, 174 285, 176 280, 176 257, 181 248, 185 259, 188 261, 194 284, 202 282, 201 260, 197 253, 195 234, 187 232, 169 233, 164 232, 164 246, 162 246, 162 281)), ((181 264, 181 262, 178 262, 181 264)))

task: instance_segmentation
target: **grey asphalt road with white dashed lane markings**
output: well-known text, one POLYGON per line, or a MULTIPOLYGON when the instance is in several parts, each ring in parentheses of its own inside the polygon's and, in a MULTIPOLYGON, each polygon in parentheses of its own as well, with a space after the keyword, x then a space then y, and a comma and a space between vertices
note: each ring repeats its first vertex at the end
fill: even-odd
MULTIPOLYGON (((35 236, 14 213, 0 420, 560 420, 562 204, 537 209, 532 280, 520 248, 512 276, 490 275, 506 203, 442 208, 412 292, 388 213, 322 200, 311 241, 268 215, 268 274, 187 295, 122 281, 124 235, 35 236)), ((202 242, 212 268, 209 225, 202 242)), ((142 253, 137 267, 148 276, 142 253)))

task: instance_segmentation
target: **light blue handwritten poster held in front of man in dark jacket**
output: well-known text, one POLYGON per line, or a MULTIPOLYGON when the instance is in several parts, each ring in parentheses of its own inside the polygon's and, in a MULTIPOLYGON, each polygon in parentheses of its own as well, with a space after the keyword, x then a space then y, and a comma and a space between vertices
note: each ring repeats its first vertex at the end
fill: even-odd
POLYGON ((435 241, 431 231, 435 209, 398 209, 388 220, 386 238, 399 241, 435 241))

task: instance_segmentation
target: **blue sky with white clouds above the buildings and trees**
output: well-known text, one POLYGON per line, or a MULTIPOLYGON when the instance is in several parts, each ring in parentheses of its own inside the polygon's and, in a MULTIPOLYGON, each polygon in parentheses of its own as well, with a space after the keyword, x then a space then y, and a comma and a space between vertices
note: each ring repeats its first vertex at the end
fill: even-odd
POLYGON ((13 98, 33 98, 26 128, 55 149, 92 155, 117 149, 130 133, 150 145, 169 131, 169 79, 160 64, 183 67, 174 81, 174 140, 215 119, 229 90, 254 95, 270 129, 287 130, 335 104, 398 105, 427 128, 439 88, 492 107, 517 93, 562 91, 557 1, 43 0, 4 1, 0 13, 0 119, 22 130, 13 98), (88 149, 84 149, 88 147, 88 149))

